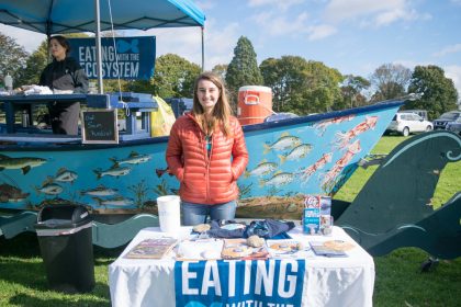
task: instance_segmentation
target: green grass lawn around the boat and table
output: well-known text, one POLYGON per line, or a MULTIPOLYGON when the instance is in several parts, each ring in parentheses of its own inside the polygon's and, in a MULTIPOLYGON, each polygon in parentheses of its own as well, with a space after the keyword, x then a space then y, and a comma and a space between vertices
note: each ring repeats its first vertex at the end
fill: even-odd
MULTIPOLYGON (((401 136, 383 137, 372 152, 386 154, 404 139, 401 136)), ((375 169, 358 169, 335 198, 352 201, 375 169)), ((461 161, 447 166, 440 177, 434 204, 443 204, 461 191, 460 173, 461 161)), ((2 237, 0 306, 110 306, 108 265, 120 252, 120 249, 95 249, 97 284, 93 292, 65 295, 47 288, 35 234, 22 234, 12 240, 2 237)), ((385 257, 375 257, 374 306, 461 306, 461 258, 442 260, 435 270, 420 273, 419 266, 428 257, 415 248, 398 249, 385 257)))

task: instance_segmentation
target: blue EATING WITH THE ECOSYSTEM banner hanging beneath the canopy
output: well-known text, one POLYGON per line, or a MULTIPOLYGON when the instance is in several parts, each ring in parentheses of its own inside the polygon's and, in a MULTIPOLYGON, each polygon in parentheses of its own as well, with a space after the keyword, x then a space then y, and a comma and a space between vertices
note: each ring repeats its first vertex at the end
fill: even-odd
MULTIPOLYGON (((70 54, 87 72, 97 79, 97 49, 94 38, 69 38, 70 54)), ((156 57, 155 36, 101 38, 102 78, 148 80, 154 76, 156 57)))

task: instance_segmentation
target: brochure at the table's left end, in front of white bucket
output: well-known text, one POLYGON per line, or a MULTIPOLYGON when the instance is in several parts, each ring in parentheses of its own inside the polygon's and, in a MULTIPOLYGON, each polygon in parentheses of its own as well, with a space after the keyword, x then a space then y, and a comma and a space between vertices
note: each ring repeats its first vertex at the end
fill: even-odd
POLYGON ((145 239, 136 245, 125 258, 130 259, 161 259, 178 243, 173 238, 145 239))

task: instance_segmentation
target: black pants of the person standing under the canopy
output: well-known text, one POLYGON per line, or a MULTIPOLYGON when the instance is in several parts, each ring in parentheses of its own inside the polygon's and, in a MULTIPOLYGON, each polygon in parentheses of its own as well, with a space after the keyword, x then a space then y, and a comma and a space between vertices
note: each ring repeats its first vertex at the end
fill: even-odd
POLYGON ((80 102, 54 102, 48 112, 54 134, 78 135, 80 102))

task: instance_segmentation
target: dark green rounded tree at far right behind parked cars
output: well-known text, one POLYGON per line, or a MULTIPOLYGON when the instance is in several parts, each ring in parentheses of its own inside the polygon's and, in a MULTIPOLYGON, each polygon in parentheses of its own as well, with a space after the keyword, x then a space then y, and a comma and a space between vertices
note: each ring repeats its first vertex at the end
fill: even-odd
POLYGON ((438 66, 416 66, 408 92, 423 96, 407 102, 406 107, 427 110, 429 118, 437 118, 447 111, 457 110, 458 92, 453 80, 446 78, 443 69, 438 66))

